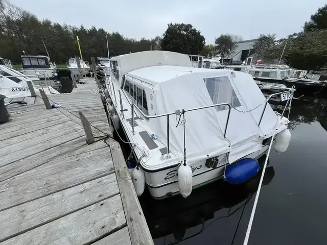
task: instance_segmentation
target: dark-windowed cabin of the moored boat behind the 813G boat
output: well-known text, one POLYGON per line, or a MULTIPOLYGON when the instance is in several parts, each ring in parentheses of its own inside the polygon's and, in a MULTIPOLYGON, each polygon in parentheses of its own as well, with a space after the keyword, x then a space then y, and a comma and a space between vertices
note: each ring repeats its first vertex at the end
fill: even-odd
POLYGON ((49 56, 43 55, 22 55, 21 60, 23 69, 51 69, 55 65, 49 56))

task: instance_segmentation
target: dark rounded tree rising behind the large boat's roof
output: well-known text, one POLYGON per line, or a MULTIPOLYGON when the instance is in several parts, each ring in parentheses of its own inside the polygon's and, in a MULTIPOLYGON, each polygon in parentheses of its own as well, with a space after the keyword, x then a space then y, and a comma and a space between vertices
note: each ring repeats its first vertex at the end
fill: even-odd
POLYGON ((198 55, 205 38, 192 24, 170 23, 161 40, 161 50, 198 55))

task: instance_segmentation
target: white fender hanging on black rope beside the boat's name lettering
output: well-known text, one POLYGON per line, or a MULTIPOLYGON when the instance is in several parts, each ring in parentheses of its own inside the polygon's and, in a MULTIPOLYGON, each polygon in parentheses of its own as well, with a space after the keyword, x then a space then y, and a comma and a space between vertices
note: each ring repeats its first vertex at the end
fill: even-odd
POLYGON ((189 197, 192 192, 192 169, 189 164, 183 163, 178 167, 178 190, 183 198, 189 197))

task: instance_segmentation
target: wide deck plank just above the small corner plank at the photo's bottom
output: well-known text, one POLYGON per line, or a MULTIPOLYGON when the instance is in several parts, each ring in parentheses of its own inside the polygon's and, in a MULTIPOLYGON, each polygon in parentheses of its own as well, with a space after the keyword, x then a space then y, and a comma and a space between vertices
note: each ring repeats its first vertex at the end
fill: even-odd
POLYGON ((51 223, 6 240, 2 245, 85 244, 126 224, 120 195, 106 199, 51 223))

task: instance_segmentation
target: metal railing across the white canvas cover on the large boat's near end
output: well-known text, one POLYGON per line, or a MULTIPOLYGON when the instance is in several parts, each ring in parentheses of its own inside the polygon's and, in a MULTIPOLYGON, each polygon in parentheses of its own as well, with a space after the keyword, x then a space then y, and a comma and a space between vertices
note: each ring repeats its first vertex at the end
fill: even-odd
MULTIPOLYGON (((120 100, 121 100, 121 96, 120 96, 120 100)), ((123 105, 122 102, 121 104, 121 111, 123 110, 123 105)), ((201 106, 201 107, 196 107, 196 108, 192 108, 192 109, 186 109, 180 111, 180 110, 176 110, 174 112, 170 112, 170 113, 165 113, 165 114, 160 114, 160 115, 154 115, 154 116, 149 116, 143 113, 143 111, 141 109, 139 109, 134 103, 131 104, 131 113, 132 113, 132 118, 131 118, 131 125, 132 125, 132 134, 134 135, 134 108, 136 108, 136 110, 147 120, 151 119, 151 118, 158 118, 158 117, 166 117, 166 123, 167 123, 167 158, 169 158, 169 116, 170 115, 180 115, 181 113, 184 112, 189 112, 189 111, 196 111, 196 110, 201 110, 201 109, 206 109, 206 108, 212 108, 212 107, 218 107, 218 106, 228 106, 228 115, 227 115, 227 120, 226 120, 226 126, 225 126, 225 130, 224 130, 224 137, 226 138, 226 132, 227 132, 227 127, 228 127, 228 121, 229 121, 229 116, 230 116, 230 111, 231 111, 231 105, 228 103, 221 103, 221 104, 215 104, 215 105, 209 105, 209 106, 201 106)))

